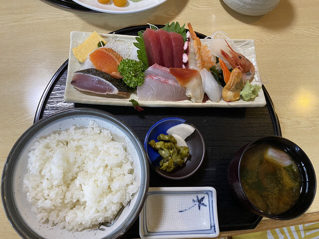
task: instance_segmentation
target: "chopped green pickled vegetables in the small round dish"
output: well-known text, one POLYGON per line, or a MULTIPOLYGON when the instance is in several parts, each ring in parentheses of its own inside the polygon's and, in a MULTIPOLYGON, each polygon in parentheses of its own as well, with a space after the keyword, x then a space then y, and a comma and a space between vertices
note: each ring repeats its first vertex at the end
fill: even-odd
POLYGON ((156 142, 154 139, 149 142, 152 148, 159 151, 162 160, 160 160, 160 170, 171 172, 185 162, 184 158, 189 156, 189 148, 186 146, 177 146, 174 136, 161 133, 156 142))

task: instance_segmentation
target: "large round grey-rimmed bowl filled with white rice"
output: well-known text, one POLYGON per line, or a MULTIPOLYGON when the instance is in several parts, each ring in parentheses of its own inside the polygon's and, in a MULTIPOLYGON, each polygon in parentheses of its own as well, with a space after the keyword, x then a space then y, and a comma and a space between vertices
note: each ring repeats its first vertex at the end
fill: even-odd
MULTIPOLYGON (((89 150, 94 141, 93 137, 90 140, 74 140, 87 142, 83 155, 97 155, 94 150, 91 152, 89 150)), ((76 147, 75 144, 75 142, 68 143, 68 147, 76 147)), ((61 145, 54 145, 63 151, 61 145)), ((41 154, 43 150, 48 151, 41 149, 41 154)), ((72 150, 64 149, 64 151, 74 154, 72 150)), ((117 239, 124 235, 138 218, 148 187, 147 156, 136 133, 111 114, 89 108, 76 108, 41 119, 21 135, 12 147, 3 167, 1 196, 6 216, 21 238, 117 239), (79 128, 100 130, 96 126, 88 127, 91 120, 100 128, 107 129, 103 133, 101 130, 103 139, 96 139, 99 143, 103 142, 103 146, 100 145, 100 149, 103 149, 100 156, 93 157, 93 160, 82 160, 81 156, 70 166, 72 159, 66 159, 65 152, 55 150, 54 153, 45 152, 47 155, 54 155, 50 163, 45 158, 36 163, 38 152, 34 150, 34 144, 37 141, 43 139, 44 142, 51 134, 52 137, 57 137, 56 133, 60 133, 59 137, 62 137, 64 133, 61 131, 65 131, 66 134, 67 130, 79 128), (112 145, 113 150, 104 152, 104 147, 107 147, 104 144, 112 145), (103 167, 104 164, 107 165, 106 161, 113 157, 109 155, 111 152, 121 155, 121 159, 111 160, 108 165, 110 170, 112 168, 112 173, 103 167), (119 166, 120 164, 122 166, 119 166), (41 173, 37 169, 40 166, 44 168, 41 173), (83 171, 81 173, 78 171, 75 177, 79 168, 83 171), (31 171, 35 175, 31 176, 31 171), (61 171, 65 171, 62 178, 61 171), (119 174, 120 172, 123 172, 123 176, 119 174), (110 176, 106 178, 109 173, 110 176), (44 183, 39 183, 44 179, 44 183), (70 184, 59 186, 62 181, 70 184), (127 184, 128 182, 132 182, 131 186, 127 184), (80 185, 83 185, 82 191, 80 185), (125 190, 121 190, 122 187, 125 187, 125 190), (45 194, 46 199, 44 199, 45 194), (126 206, 122 208, 122 205, 126 206), (116 220, 111 219, 110 224, 104 223, 114 217, 113 214, 118 208, 122 209, 116 220)))

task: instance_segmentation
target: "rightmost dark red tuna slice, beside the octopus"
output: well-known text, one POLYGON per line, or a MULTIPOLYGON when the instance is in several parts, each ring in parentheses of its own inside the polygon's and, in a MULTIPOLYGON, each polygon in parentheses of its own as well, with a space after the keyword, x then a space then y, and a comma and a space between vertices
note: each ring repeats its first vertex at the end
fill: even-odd
MULTIPOLYGON (((183 36, 181 34, 178 34, 176 32, 169 32, 172 42, 172 51, 170 54, 172 54, 173 62, 172 65, 169 67, 175 67, 175 68, 181 68, 183 65, 183 53, 184 53, 184 40, 183 36)), ((167 66, 168 67, 168 66, 167 66)), ((169 68, 168 67, 168 68, 169 68)))

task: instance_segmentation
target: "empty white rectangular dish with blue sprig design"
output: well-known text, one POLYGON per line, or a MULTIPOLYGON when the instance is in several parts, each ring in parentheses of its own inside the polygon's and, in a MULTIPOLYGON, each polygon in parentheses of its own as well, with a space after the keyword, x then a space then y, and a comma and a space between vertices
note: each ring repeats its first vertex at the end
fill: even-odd
POLYGON ((150 187, 140 213, 142 239, 215 238, 219 235, 213 187, 150 187))

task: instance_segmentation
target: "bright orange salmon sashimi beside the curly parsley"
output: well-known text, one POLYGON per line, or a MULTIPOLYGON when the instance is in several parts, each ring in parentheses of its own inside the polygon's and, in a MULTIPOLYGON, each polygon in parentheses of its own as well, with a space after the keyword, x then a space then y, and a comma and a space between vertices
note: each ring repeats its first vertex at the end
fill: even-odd
POLYGON ((122 78, 118 71, 118 65, 123 57, 115 50, 106 47, 100 47, 89 55, 90 61, 96 69, 110 74, 114 78, 122 78))

